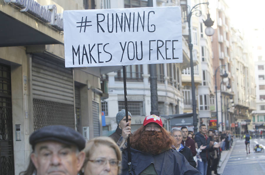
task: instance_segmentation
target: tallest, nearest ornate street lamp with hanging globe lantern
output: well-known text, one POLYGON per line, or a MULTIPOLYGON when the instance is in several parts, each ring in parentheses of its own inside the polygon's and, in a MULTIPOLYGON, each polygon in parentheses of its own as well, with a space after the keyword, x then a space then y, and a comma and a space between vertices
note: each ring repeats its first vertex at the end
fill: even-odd
MULTIPOLYGON (((207 4, 207 6, 209 5, 209 2, 204 2, 204 3, 199 3, 196 4, 195 6, 193 6, 192 8, 190 8, 190 6, 186 5, 187 7, 187 11, 188 11, 188 7, 190 9, 190 11, 188 12, 187 15, 187 22, 188 22, 188 27, 189 27, 189 42, 188 42, 188 46, 189 46, 189 50, 190 50, 190 64, 191 64, 191 95, 192 95, 192 113, 193 113, 193 126, 194 126, 194 133, 197 132, 197 114, 196 114, 196 100, 195 100, 195 84, 194 84, 194 71, 193 71, 193 55, 192 55, 192 48, 193 48, 193 44, 191 44, 191 15, 193 14, 194 11, 198 11, 199 13, 196 13, 196 16, 201 16, 201 11, 198 8, 199 5, 201 4, 207 4)), ((210 14, 208 12, 207 15, 207 19, 206 21, 203 21, 204 25, 207 27, 205 29, 205 34, 207 36, 212 36, 214 34, 214 29, 211 27, 213 26, 213 22, 210 18, 210 14)))

